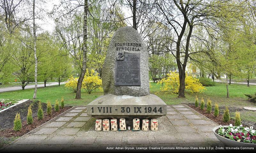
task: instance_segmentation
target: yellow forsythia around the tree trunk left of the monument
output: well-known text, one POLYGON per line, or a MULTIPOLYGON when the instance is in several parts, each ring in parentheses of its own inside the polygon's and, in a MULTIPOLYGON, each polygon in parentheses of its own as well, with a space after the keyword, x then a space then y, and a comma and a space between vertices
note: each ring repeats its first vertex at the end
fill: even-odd
MULTIPOLYGON (((78 77, 74 78, 71 76, 65 84, 65 87, 67 87, 72 92, 76 92, 77 82, 78 77)), ((102 80, 100 77, 98 77, 97 73, 95 74, 93 69, 91 70, 91 73, 89 73, 89 70, 86 69, 86 73, 82 82, 82 89, 84 89, 89 94, 96 89, 102 90, 102 80)))

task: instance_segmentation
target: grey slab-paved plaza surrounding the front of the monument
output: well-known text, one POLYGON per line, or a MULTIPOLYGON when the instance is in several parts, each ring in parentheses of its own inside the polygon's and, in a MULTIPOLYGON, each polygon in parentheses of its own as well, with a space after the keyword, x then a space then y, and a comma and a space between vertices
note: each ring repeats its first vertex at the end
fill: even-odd
POLYGON ((167 108, 168 115, 158 119, 158 131, 104 132, 95 131, 95 125, 85 130, 83 127, 91 116, 86 114, 85 106, 75 106, 5 146, 2 151, 34 152, 43 149, 66 152, 106 150, 106 147, 224 146, 212 132, 212 128, 218 126, 216 123, 186 105, 167 108))

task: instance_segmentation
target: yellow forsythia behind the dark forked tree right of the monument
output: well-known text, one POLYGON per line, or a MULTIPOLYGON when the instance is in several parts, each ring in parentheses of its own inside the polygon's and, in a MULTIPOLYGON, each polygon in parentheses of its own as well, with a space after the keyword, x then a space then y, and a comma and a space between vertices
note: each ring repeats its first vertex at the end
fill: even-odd
MULTIPOLYGON (((163 87, 160 87, 161 91, 171 91, 173 93, 179 93, 180 79, 179 73, 171 72, 167 74, 166 78, 163 78, 158 84, 164 83, 163 87)), ((197 78, 186 75, 185 78, 185 90, 190 92, 203 92, 205 87, 199 82, 197 78)))

